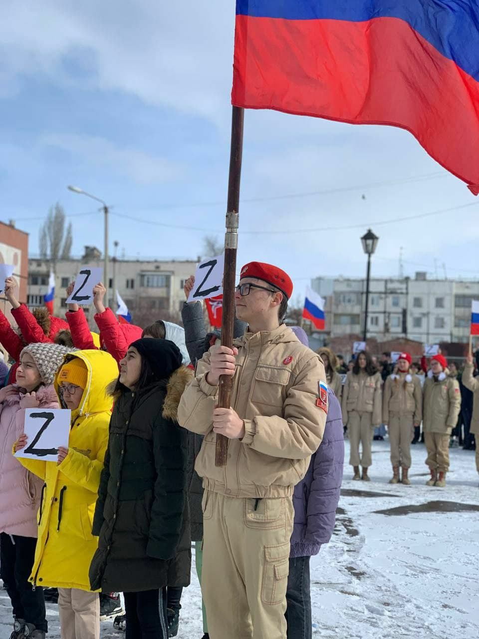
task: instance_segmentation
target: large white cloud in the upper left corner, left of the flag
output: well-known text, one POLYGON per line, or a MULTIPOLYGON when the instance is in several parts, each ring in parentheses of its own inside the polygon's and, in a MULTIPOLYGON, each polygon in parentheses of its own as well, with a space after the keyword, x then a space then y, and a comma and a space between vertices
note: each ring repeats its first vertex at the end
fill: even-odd
POLYGON ((71 56, 91 65, 82 84, 146 104, 218 119, 229 100, 234 3, 26 0, 2 12, 1 58, 12 80, 75 82, 64 66, 71 56))

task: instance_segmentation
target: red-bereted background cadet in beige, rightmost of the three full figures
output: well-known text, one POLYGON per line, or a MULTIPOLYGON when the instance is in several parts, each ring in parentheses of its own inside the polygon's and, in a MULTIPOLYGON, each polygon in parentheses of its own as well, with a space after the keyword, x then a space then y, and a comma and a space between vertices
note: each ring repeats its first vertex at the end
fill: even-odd
POLYGON ((459 383, 449 376, 443 355, 434 355, 423 388, 423 433, 430 470, 427 486, 446 486, 449 438, 460 412, 459 383))

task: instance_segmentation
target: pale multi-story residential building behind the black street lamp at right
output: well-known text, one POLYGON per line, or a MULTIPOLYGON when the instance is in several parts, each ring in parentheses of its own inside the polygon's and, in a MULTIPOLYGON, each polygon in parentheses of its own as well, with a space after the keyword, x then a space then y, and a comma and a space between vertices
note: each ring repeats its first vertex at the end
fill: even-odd
MULTIPOLYGON (((325 279, 311 286, 326 299, 326 335, 362 335, 365 279, 325 279)), ((367 336, 379 341, 407 337, 422 343, 467 342, 471 302, 479 300, 479 282, 372 278, 369 286, 367 336)))

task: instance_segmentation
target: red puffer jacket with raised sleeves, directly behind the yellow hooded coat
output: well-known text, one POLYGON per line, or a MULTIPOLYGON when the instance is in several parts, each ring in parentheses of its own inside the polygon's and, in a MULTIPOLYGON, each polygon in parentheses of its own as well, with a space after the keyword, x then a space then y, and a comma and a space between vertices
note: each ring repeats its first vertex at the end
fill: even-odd
MULTIPOLYGON (((66 319, 72 332, 73 344, 81 350, 96 349, 83 310, 68 311, 66 319)), ((100 329, 100 343, 105 346, 117 362, 125 357, 128 346, 140 339, 143 332, 142 328, 134 324, 120 324, 111 309, 105 309, 103 313, 96 313, 95 321, 100 329)))

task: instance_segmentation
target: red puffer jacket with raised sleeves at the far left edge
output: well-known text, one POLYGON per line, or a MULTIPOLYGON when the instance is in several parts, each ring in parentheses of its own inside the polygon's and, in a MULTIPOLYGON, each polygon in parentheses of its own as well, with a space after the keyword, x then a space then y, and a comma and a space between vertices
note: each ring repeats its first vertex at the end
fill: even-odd
POLYGON ((11 314, 19 325, 23 339, 15 333, 8 319, 4 316, 3 312, 0 311, 0 342, 10 357, 15 360, 15 364, 11 367, 8 376, 8 383, 13 384, 17 379, 19 357, 24 346, 38 342, 52 344, 59 330, 68 330, 68 324, 63 319, 50 315, 50 332, 48 335, 45 335, 42 327, 38 325, 33 314, 31 314, 25 304, 21 304, 18 309, 11 309, 11 314))

